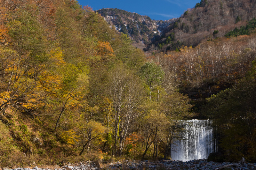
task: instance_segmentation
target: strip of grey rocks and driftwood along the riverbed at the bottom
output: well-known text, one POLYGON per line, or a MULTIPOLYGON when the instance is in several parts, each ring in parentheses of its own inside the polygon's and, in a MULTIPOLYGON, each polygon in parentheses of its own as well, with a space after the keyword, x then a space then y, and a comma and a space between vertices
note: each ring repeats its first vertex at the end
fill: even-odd
MULTIPOLYGON (((11 169, 4 167, 3 170, 11 169)), ((55 167, 33 167, 33 168, 15 168, 12 170, 100 170, 100 169, 168 169, 168 170, 256 170, 256 163, 247 163, 245 160, 241 160, 238 163, 216 163, 212 161, 207 161, 206 159, 191 160, 191 161, 172 161, 172 160, 162 160, 158 162, 145 161, 128 161, 124 160, 121 162, 110 163, 108 165, 100 166, 95 162, 87 161, 81 162, 79 164, 65 165, 65 166, 55 166, 55 167)))

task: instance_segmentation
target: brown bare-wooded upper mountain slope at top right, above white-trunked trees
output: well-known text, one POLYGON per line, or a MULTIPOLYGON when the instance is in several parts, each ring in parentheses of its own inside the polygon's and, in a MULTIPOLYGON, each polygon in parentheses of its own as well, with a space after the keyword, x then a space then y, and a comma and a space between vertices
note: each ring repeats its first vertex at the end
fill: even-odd
POLYGON ((182 44, 195 47, 202 40, 223 37, 235 27, 240 28, 255 18, 255 7, 254 0, 202 0, 167 26, 162 37, 147 50, 152 51, 156 47, 162 51, 175 50, 182 44), (168 36, 174 38, 167 41, 168 36))

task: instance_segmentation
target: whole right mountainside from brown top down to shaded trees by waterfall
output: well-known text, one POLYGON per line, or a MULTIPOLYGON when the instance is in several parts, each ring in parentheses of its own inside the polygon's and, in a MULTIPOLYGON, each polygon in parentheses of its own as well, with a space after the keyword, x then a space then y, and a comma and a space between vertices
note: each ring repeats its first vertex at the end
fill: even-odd
POLYGON ((198 118, 216 120, 228 161, 256 159, 255 13, 255 1, 202 0, 144 49, 194 100, 198 118))

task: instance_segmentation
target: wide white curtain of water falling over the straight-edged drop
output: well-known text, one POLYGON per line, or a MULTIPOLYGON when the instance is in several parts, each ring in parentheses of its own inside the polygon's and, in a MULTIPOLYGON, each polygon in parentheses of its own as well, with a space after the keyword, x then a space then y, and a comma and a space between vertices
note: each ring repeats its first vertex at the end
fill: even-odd
POLYGON ((207 159, 215 152, 212 120, 188 120, 180 123, 184 140, 176 140, 171 147, 172 160, 207 159))

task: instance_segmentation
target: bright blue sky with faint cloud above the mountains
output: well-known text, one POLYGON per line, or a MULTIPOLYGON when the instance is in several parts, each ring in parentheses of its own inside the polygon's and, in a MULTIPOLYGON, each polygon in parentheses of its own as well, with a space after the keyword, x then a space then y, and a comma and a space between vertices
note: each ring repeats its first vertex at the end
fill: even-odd
POLYGON ((178 18, 188 8, 200 0, 78 0, 80 5, 89 5, 93 10, 118 8, 121 10, 147 15, 155 20, 178 18))

